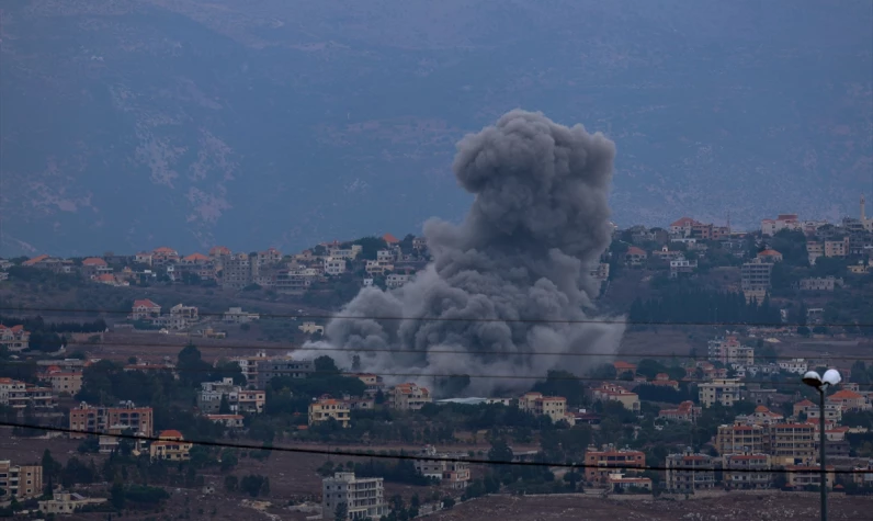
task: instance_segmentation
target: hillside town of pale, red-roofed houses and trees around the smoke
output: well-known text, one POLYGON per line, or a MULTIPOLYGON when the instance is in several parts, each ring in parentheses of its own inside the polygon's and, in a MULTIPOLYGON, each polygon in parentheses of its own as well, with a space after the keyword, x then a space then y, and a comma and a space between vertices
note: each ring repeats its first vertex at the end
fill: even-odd
MULTIPOLYGON (((173 484, 275 498, 270 479, 276 476, 238 475, 240 451, 195 443, 220 439, 252 446, 416 448, 411 454, 421 460, 411 463, 325 463, 318 491, 326 519, 363 505, 362 497, 366 505, 345 516, 409 516, 500 490, 812 490, 819 484, 823 437, 827 469, 835 471, 825 486, 871 494, 873 474, 836 471, 873 471, 873 364, 844 353, 796 355, 786 346, 807 339, 869 342, 872 256, 873 218, 865 216, 863 197, 859 218, 837 224, 785 214, 762 220, 755 231, 690 217, 665 227, 616 228, 610 248, 588 268, 601 283, 599 304, 626 314, 631 331, 654 335, 647 328, 658 324, 714 322, 705 344, 669 355, 620 353, 587 374, 553 371, 532 381, 528 392, 486 397, 464 393, 465 375, 432 389, 426 378, 396 382, 366 367, 339 367, 329 352, 295 356, 302 341, 325 335, 326 315, 311 309, 336 312, 363 287, 397 291, 413 280, 430 259, 422 237, 385 234, 293 254, 224 247, 180 254, 159 247, 135 254, 2 260, 0 291, 36 282, 77 291, 105 285, 124 292, 126 303, 112 313, 92 310, 84 321, 81 314, 52 318, 14 299, 4 303, 0 414, 67 429, 78 455, 66 466, 52 455, 0 462, 0 471, 7 469, 0 475, 9 476, 0 489, 12 498, 3 508, 118 511, 125 501, 135 505, 137 494, 165 501, 161 487, 173 484), (194 287, 215 292, 205 308, 185 302, 186 288, 194 287), (174 293, 147 293, 155 288, 174 293), (225 306, 239 295, 254 304, 225 306), (260 309, 261 301, 293 310, 277 317, 260 309), (294 343, 285 336, 270 347, 273 340, 263 331, 279 319, 292 320, 294 343), (184 347, 174 358, 150 356, 147 349, 127 358, 94 354, 112 344, 112 335, 127 333, 180 339, 184 347), (261 335, 264 347, 213 358, 204 343, 242 351, 239 339, 251 335, 261 335), (830 366, 843 384, 827 397, 823 433, 817 395, 797 384, 806 371, 830 366), (466 458, 591 466, 490 469, 466 458), (220 480, 208 477, 213 467, 220 480), (121 473, 136 468, 155 478, 140 488, 122 483, 121 473), (99 482, 114 485, 88 497, 87 487, 99 482), (386 496, 399 484, 422 487, 422 496, 424 487, 438 491, 429 501, 416 495, 407 505, 410 497, 398 496, 398 502, 386 496)), ((11 434, 37 443, 34 437, 42 433, 14 428, 11 434)), ((267 452, 252 450, 249 457, 270 457, 267 452)))

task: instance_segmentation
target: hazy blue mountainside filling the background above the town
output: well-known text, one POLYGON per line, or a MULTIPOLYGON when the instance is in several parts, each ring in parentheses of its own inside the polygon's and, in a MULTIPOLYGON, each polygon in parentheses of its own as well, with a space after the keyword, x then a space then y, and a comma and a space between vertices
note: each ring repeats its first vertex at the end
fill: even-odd
POLYGON ((0 254, 420 234, 515 107, 615 143, 620 225, 857 215, 871 42, 869 0, 7 0, 0 254))

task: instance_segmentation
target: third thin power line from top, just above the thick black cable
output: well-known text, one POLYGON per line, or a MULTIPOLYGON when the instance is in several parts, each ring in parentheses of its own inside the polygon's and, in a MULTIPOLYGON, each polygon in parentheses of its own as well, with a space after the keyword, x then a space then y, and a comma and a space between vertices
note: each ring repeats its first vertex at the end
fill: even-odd
MULTIPOLYGON (((22 362, 0 362, 0 367, 2 366, 26 366, 27 364, 22 362)), ((123 367, 124 369, 124 367, 123 367)), ((179 372, 179 373, 211 373, 211 374, 238 374, 239 370, 235 369, 219 369, 219 367, 211 367, 211 369, 197 369, 197 367, 189 367, 189 369, 178 369, 178 367, 162 367, 162 366, 133 366, 128 367, 131 371, 167 371, 167 372, 179 372)), ((324 375, 339 375, 339 376, 354 376, 358 373, 336 373, 333 371, 304 371, 304 370, 267 370, 267 372, 272 374, 324 374, 324 375)), ((245 373, 242 373, 245 375, 245 373)), ((375 373, 374 373, 375 374, 375 373)), ((494 378, 494 380, 534 380, 534 381, 571 381, 571 382, 623 382, 623 383, 637 383, 633 381, 624 381, 620 378, 596 378, 591 376, 533 376, 533 375, 511 375, 511 374, 462 374, 462 373, 454 373, 454 374, 424 374, 424 373, 384 373, 379 372, 378 376, 404 376, 404 377, 432 377, 432 378, 494 378)), ((680 380, 677 383, 692 383, 692 384, 706 384, 712 383, 712 380, 702 380, 702 378, 692 378, 692 380, 680 380)), ((650 383, 650 382, 647 382, 650 383)), ((803 382, 773 382, 770 380, 745 380, 741 381, 742 384, 770 384, 770 385, 802 385, 803 382)), ((638 383, 639 385, 646 385, 646 383, 638 383)), ((805 384, 803 384, 805 385, 805 384)), ((873 385, 871 384, 858 384, 858 385, 873 385)))

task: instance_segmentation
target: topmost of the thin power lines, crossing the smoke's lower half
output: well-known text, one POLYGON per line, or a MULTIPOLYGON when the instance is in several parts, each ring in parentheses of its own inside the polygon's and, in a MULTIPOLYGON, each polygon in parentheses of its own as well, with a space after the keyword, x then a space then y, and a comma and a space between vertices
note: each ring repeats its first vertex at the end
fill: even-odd
MULTIPOLYGON (((67 314, 97 314, 97 315, 131 315, 125 309, 64 309, 48 307, 0 307, 0 310, 13 313, 67 313, 67 314)), ((203 312, 199 316, 224 316, 224 312, 203 312)), ((724 326, 724 327, 841 327, 841 328, 869 328, 873 324, 794 324, 794 322, 718 322, 718 321, 656 321, 656 320, 620 320, 606 318, 580 318, 580 319, 549 319, 549 318, 460 318, 460 317, 398 317, 398 316, 351 316, 351 315, 305 315, 305 314, 257 314, 261 318, 293 318, 293 319, 324 319, 324 320, 420 320, 420 321, 445 321, 445 322, 509 322, 509 324, 601 324, 601 325, 625 325, 625 326, 724 326)))

